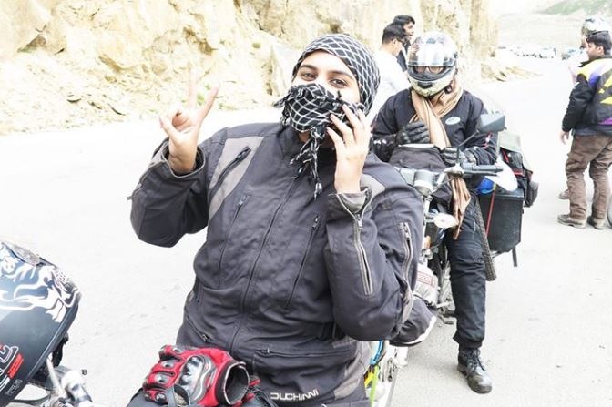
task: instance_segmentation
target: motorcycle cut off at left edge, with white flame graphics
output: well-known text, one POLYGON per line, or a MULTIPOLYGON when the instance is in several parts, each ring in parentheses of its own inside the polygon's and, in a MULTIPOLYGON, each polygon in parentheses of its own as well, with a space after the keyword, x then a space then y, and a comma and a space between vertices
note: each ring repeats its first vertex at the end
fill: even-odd
POLYGON ((94 407, 84 375, 62 366, 80 292, 53 263, 0 240, 0 407, 94 407), (30 386, 36 399, 18 399, 30 386))

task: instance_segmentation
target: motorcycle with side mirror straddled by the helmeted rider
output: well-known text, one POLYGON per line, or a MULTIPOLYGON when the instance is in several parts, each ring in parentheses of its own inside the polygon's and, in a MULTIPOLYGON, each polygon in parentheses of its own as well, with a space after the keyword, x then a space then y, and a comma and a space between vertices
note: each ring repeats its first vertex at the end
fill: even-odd
MULTIPOLYGON (((447 119, 447 124, 452 125, 455 119, 458 118, 450 117, 447 119)), ((504 115, 499 113, 482 115, 477 130, 471 137, 475 137, 477 134, 498 132, 504 128, 504 115)), ((431 154, 430 158, 433 160, 436 159, 433 157, 435 155, 439 158, 439 153, 433 145, 403 145, 398 148, 413 148, 420 150, 420 154, 431 154)), ((459 151, 457 155, 459 155, 459 151)), ((426 161, 428 163, 432 162, 429 158, 426 161)), ((484 177, 506 190, 514 190, 517 188, 515 175, 502 161, 498 161, 494 165, 475 165, 460 163, 457 159, 457 163, 453 167, 446 168, 442 164, 440 168, 434 170, 430 169, 431 166, 429 165, 429 168, 411 168, 409 162, 402 159, 398 159, 392 164, 395 165, 404 180, 412 185, 423 198, 423 248, 419 257, 415 293, 438 311, 442 321, 451 323, 448 318, 454 315, 454 303, 451 292, 451 267, 447 259, 444 237, 447 229, 456 226, 456 219, 444 212, 442 205, 437 208, 434 207, 432 205, 433 200, 436 197, 439 198, 440 195, 444 198, 444 194, 448 195, 450 193, 449 190, 444 192, 443 189, 448 186, 453 178, 484 177)), ((446 198, 450 199, 449 196, 446 196, 446 198)), ((480 209, 476 212, 480 214, 480 209)), ((480 215, 480 229, 483 231, 481 241, 485 262, 492 263, 492 255, 488 250, 488 242, 484 234, 482 214, 480 215)), ((487 273, 489 272, 487 271, 487 273)), ((489 279, 489 276, 487 276, 487 279, 489 279)), ((425 335, 428 333, 424 332, 425 335)), ((374 342, 372 360, 365 374, 366 391, 370 394, 372 407, 389 407, 391 405, 399 371, 408 364, 407 352, 406 346, 393 346, 390 341, 374 342)))

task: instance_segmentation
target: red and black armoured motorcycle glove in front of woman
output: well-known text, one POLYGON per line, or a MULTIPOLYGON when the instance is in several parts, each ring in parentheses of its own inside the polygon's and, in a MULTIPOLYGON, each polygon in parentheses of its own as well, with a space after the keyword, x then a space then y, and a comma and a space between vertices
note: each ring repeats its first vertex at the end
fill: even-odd
POLYGON ((216 407, 242 402, 249 385, 244 363, 227 351, 166 345, 142 389, 145 399, 162 405, 216 407))

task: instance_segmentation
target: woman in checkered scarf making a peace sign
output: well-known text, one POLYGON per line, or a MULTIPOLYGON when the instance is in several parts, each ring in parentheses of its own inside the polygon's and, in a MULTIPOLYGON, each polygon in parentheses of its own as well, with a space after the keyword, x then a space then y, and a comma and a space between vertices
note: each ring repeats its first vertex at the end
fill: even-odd
POLYGON ((132 197, 148 243, 208 228, 178 343, 229 351, 282 406, 368 406, 363 341, 393 337, 412 306, 423 205, 368 153, 378 78, 360 43, 322 36, 293 69, 282 123, 199 146, 216 89, 197 108, 191 83, 132 197))

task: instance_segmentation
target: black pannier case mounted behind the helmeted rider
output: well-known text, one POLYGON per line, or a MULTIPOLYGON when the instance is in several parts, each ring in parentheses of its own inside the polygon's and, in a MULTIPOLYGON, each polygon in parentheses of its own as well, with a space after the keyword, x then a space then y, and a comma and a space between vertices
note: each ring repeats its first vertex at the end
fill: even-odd
POLYGON ((505 253, 515 249, 515 246, 521 242, 524 198, 522 188, 506 191, 498 187, 492 193, 479 195, 491 250, 505 253), (489 212, 491 212, 490 217, 489 212))

